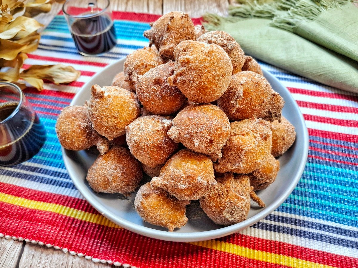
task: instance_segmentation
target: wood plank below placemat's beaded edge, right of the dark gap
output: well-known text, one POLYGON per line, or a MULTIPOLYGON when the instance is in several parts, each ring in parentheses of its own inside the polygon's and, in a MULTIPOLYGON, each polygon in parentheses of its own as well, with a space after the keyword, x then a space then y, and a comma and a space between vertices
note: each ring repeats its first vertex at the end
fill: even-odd
POLYGON ((73 267, 73 268, 108 268, 112 265, 101 262, 95 263, 84 257, 71 255, 62 250, 47 248, 37 244, 26 243, 21 255, 19 268, 34 267, 73 267))

